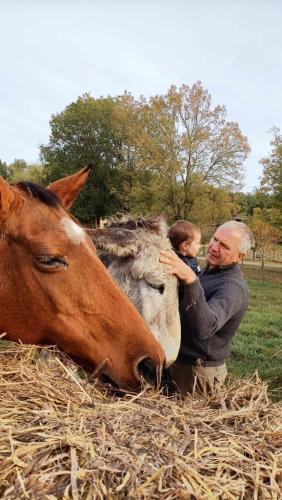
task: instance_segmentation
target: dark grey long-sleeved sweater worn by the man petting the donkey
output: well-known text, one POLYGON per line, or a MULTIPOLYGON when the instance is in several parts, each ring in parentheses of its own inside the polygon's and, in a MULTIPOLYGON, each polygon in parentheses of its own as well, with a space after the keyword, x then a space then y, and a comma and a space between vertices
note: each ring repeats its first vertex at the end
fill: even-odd
POLYGON ((248 306, 248 288, 239 265, 206 269, 184 288, 178 359, 224 362, 248 306))

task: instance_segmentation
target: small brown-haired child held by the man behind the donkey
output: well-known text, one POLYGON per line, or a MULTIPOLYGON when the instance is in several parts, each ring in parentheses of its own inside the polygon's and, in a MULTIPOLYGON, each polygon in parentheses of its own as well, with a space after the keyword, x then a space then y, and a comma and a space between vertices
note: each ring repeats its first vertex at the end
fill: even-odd
MULTIPOLYGON (((168 237, 178 257, 190 266, 195 274, 200 274, 201 268, 196 258, 201 246, 200 229, 191 222, 178 220, 171 226, 168 237)), ((183 283, 179 283, 178 295, 180 302, 184 295, 183 283)))

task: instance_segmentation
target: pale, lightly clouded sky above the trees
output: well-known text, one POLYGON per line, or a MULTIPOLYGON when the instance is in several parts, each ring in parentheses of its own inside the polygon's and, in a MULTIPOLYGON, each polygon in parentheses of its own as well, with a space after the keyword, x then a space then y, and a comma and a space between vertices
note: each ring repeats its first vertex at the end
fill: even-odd
POLYGON ((280 0, 0 0, 0 159, 39 159, 51 115, 89 92, 200 80, 248 137, 244 191, 282 128, 280 0))

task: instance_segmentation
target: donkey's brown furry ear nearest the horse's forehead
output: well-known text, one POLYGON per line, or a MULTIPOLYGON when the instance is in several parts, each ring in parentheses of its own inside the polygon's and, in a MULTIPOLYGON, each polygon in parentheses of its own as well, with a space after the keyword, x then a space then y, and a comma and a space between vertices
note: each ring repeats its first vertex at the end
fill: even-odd
POLYGON ((97 229, 91 234, 91 238, 98 255, 99 251, 103 251, 116 257, 133 257, 138 252, 135 235, 129 229, 97 229))

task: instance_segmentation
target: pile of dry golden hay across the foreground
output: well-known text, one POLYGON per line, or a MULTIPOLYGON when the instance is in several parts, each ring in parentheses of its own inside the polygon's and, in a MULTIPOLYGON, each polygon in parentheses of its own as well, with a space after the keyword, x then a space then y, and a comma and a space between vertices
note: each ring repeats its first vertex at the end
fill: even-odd
POLYGON ((258 378, 209 401, 117 397, 61 360, 0 350, 2 499, 282 497, 282 405, 258 378))

